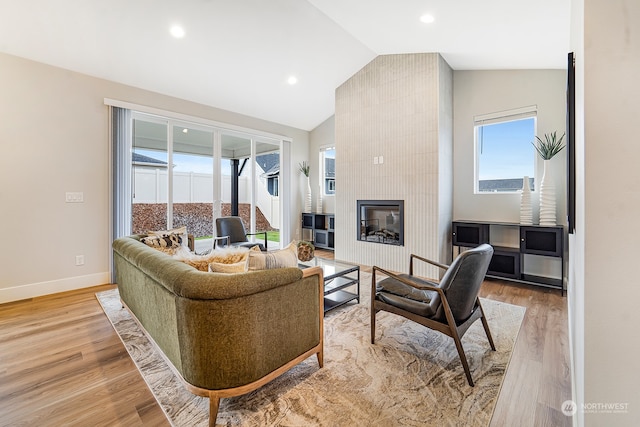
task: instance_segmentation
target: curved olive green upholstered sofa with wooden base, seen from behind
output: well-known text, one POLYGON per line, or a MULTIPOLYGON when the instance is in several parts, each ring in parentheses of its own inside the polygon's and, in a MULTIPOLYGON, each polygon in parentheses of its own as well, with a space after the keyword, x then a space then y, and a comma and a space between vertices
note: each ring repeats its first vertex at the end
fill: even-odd
POLYGON ((123 306, 152 338, 187 389, 210 399, 248 393, 315 354, 323 363, 319 267, 207 273, 140 239, 113 242, 123 306))

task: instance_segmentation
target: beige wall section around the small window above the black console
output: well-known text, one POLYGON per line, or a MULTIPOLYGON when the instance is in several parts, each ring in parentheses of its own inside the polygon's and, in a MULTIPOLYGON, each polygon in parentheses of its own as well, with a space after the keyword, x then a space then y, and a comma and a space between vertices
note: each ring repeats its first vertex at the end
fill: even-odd
MULTIPOLYGON (((564 70, 454 71, 454 190, 457 220, 520 222, 520 195, 474 194, 474 116, 537 105, 537 135, 565 131, 567 73, 564 70)), ((552 160, 556 184, 556 218, 566 225, 566 150, 552 160)), ((536 182, 543 162, 537 161, 536 182)), ((538 186, 536 186, 538 187, 538 186)), ((533 194, 538 221, 538 191, 533 194)))

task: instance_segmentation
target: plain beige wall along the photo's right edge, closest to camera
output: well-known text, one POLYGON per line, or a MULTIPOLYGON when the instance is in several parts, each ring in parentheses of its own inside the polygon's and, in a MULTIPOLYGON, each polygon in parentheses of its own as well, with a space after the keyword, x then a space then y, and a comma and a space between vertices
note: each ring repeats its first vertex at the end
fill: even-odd
MULTIPOLYGON (((584 401, 628 404, 585 414, 586 426, 640 425, 640 2, 584 0, 584 401)), ((581 64, 582 65, 582 64, 581 64)))

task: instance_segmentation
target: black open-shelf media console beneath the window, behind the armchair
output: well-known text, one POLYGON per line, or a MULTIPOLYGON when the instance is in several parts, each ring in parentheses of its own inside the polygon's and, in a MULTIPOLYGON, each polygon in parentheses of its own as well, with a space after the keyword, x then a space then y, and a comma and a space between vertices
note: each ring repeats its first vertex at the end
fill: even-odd
MULTIPOLYGON (((493 258, 487 271, 487 277, 511 280, 519 283, 560 289, 564 296, 564 227, 546 227, 540 225, 521 225, 517 223, 454 221, 452 223, 452 247, 473 248, 482 243, 493 246, 493 258), (517 232, 519 242, 513 246, 495 245, 491 239, 491 229, 498 228, 517 232), (519 245, 519 247, 516 247, 519 245), (560 277, 547 277, 532 274, 525 270, 527 257, 534 255, 560 260, 560 277)), ((501 242, 502 243, 502 242, 501 242)), ((509 242, 511 244, 511 242, 509 242)))

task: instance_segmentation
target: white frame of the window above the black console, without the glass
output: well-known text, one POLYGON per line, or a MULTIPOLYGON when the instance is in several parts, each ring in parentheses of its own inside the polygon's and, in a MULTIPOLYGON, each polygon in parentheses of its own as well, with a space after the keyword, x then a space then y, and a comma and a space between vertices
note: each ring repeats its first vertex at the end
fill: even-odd
MULTIPOLYGON (((533 134, 534 136, 537 134, 538 129, 538 115, 537 115, 537 106, 526 106, 521 108, 515 108, 511 110, 499 111, 495 113, 478 115, 473 118, 473 156, 474 156, 474 173, 473 173, 473 193, 478 195, 496 195, 496 194, 517 194, 518 190, 511 191, 480 191, 480 153, 479 153, 479 128, 481 126, 499 124, 499 123, 507 123, 513 122, 517 120, 525 120, 525 119, 533 119, 533 134)), ((533 156, 533 178, 534 180, 534 188, 532 192, 537 192, 539 188, 538 179, 538 156, 536 155, 535 149, 532 148, 532 156, 533 156)), ((524 177, 524 174, 523 174, 524 177)))

